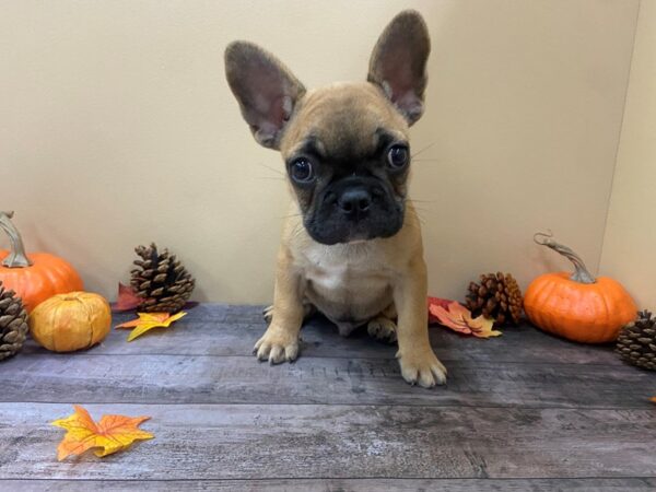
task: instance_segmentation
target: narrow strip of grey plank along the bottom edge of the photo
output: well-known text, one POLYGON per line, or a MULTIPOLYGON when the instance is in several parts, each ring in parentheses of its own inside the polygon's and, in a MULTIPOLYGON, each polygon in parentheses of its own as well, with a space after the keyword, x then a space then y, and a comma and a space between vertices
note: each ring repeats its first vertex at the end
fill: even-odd
POLYGON ((268 492, 642 492, 656 489, 656 480, 620 479, 295 479, 295 480, 0 480, 0 490, 14 492, 140 491, 268 491, 268 492))

